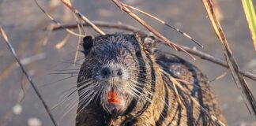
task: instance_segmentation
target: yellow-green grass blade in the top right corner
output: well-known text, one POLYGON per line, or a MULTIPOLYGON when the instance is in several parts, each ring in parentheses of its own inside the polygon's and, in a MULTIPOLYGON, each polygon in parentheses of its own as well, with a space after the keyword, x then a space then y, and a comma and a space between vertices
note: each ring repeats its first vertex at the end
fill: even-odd
POLYGON ((253 39, 254 49, 256 50, 256 15, 254 11, 254 4, 251 0, 241 0, 244 13, 247 17, 247 23, 250 29, 251 39, 253 39))

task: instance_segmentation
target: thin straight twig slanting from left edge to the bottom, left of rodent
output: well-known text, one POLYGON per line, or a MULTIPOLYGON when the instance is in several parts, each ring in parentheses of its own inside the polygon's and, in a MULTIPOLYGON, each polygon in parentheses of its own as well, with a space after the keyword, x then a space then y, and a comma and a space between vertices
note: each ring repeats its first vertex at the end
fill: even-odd
POLYGON ((5 40, 7 46, 9 47, 9 50, 11 50, 13 57, 15 57, 15 60, 17 61, 17 63, 20 65, 22 72, 24 73, 24 75, 27 77, 29 83, 31 83, 32 88, 34 89, 34 91, 36 92, 36 95, 40 98, 40 101, 43 103, 43 107, 47 110, 47 113, 49 115, 49 117, 51 118, 52 123, 57 126, 54 117, 51 114, 50 109, 48 108, 46 102, 44 102, 42 95, 40 94, 40 91, 37 89, 36 85, 32 82, 30 76, 28 76, 28 72, 26 72, 26 70, 24 69, 24 66, 21 64, 20 59, 17 57, 16 51, 14 50, 13 46, 11 43, 9 43, 8 37, 6 35, 6 32, 2 29, 2 26, 0 26, 0 33, 3 37, 3 39, 5 40))

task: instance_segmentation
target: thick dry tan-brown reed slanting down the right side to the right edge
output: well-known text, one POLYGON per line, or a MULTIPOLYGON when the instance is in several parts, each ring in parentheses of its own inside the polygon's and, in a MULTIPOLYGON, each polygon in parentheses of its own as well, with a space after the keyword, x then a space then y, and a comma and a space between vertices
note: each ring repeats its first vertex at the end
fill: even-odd
POLYGON ((216 32, 217 37, 220 39, 220 44, 224 50, 224 57, 228 62, 228 67, 232 72, 233 79, 235 80, 236 86, 239 87, 243 100, 249 110, 250 114, 256 118, 256 101, 254 95, 250 91, 250 87, 247 84, 247 81, 244 80, 243 75, 239 73, 239 66, 237 65, 235 58, 232 54, 232 50, 228 46, 228 41, 224 35, 224 32, 220 26, 219 20, 217 20, 215 15, 215 10, 213 9, 213 2, 211 0, 202 0, 205 9, 209 15, 209 19, 213 24, 214 31, 216 32))

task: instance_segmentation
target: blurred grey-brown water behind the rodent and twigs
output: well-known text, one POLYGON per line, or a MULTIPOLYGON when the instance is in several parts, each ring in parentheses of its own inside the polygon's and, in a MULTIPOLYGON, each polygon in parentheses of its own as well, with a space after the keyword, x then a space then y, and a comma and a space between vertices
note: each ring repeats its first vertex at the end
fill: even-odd
MULTIPOLYGON (((197 47, 198 50, 224 59, 219 40, 213 32, 200 0, 123 0, 123 2, 156 15, 166 20, 168 24, 186 31, 205 46, 203 49, 197 47)), ((90 20, 122 22, 144 29, 129 15, 122 13, 111 1, 73 0, 72 4, 90 20)), ((255 4, 254 2, 254 6, 255 4)), ((62 24, 75 24, 72 13, 60 1, 41 0, 40 5, 62 24)), ((256 73, 255 50, 241 2, 218 0, 218 5, 224 33, 240 69, 256 73)), ((140 16, 171 41, 191 48, 196 46, 177 31, 148 17, 140 16)), ((51 20, 32 0, 0 0, 0 25, 9 36, 9 41, 17 50, 18 56, 40 89, 47 105, 50 106, 55 119, 59 125, 74 125, 77 109, 77 94, 74 87, 82 54, 78 56, 77 65, 73 65, 78 38, 68 35, 64 30, 47 31, 51 23, 51 20)), ((104 31, 115 33, 118 30, 104 29, 104 31)), ((85 32, 96 35, 91 28, 85 28, 85 32)), ((213 80, 226 71, 219 65, 203 61, 199 57, 193 61, 181 52, 175 52, 172 49, 165 50, 178 54, 197 65, 209 80, 213 80)), ((247 80, 251 91, 256 96, 256 83, 247 80)), ((220 100, 228 125, 256 126, 229 72, 227 76, 214 81, 211 85, 220 100)), ((4 125, 52 124, 35 91, 32 90, 14 61, 6 43, 0 39, 0 126, 4 125)))

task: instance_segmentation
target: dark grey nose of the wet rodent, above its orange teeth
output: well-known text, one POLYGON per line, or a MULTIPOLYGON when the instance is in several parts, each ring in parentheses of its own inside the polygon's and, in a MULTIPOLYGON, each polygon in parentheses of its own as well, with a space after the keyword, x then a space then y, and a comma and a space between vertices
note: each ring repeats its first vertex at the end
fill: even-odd
POLYGON ((103 76, 106 79, 110 78, 110 77, 121 77, 122 76, 122 69, 104 67, 103 69, 101 69, 101 76, 103 76))

